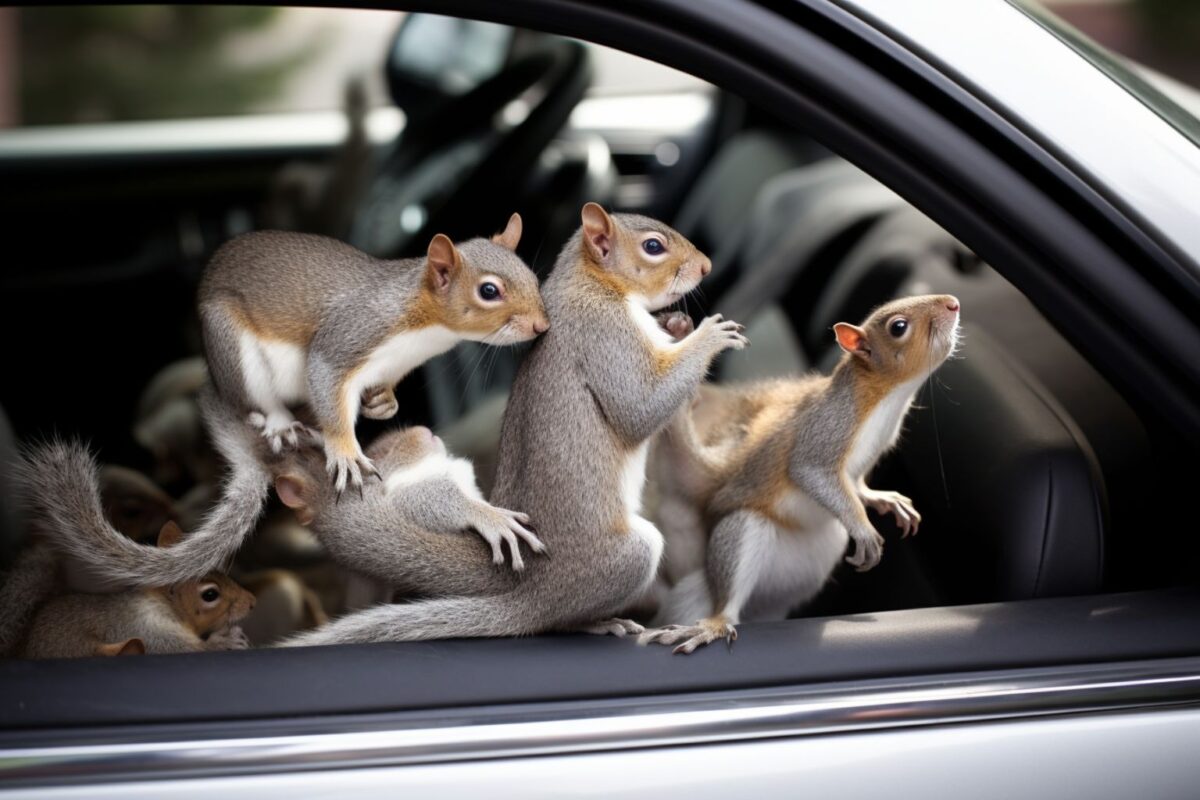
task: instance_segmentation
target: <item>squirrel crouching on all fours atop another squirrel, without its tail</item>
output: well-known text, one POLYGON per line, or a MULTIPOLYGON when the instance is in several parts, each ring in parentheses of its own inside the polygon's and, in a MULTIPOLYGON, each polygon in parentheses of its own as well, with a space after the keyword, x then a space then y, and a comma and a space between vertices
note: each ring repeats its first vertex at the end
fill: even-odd
POLYGON ((311 431, 338 492, 378 474, 354 435, 359 414, 392 417, 395 385, 462 339, 514 344, 548 326, 538 278, 517 254, 521 217, 425 258, 380 260, 334 239, 257 231, 223 245, 200 279, 209 371, 221 397, 278 452, 311 431))

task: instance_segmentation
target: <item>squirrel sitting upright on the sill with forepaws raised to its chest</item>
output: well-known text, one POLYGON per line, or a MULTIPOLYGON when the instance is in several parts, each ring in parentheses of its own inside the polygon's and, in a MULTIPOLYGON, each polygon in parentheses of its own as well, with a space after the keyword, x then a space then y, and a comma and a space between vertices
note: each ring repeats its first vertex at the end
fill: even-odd
POLYGON ((649 584, 662 551, 638 513, 648 441, 713 359, 746 339, 709 317, 677 342, 652 315, 712 270, 679 233, 594 203, 581 219, 542 287, 551 326, 517 371, 491 497, 536 519, 550 557, 497 582, 463 570, 462 553, 430 548, 427 569, 458 570, 462 591, 348 614, 292 644, 642 631, 613 614, 649 584))

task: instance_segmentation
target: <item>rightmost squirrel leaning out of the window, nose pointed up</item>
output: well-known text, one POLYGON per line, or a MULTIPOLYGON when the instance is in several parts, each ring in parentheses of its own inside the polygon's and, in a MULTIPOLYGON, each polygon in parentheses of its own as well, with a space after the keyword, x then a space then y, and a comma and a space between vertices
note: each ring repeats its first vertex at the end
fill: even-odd
POLYGON ((817 594, 848 542, 846 561, 872 569, 883 537, 866 509, 917 533, 912 500, 865 479, 895 445, 922 381, 954 353, 959 309, 952 295, 886 303, 860 326, 834 325, 845 353, 832 375, 706 387, 708 408, 672 421, 659 464, 670 491, 701 510, 704 530, 692 536, 707 540, 704 567, 671 589, 643 643, 686 654, 732 642, 743 616, 782 619, 817 594))

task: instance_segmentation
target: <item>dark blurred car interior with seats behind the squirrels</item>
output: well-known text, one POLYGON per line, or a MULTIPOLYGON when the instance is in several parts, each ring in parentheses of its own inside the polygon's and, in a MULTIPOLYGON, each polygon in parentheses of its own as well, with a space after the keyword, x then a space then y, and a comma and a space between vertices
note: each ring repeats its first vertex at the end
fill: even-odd
MULTIPOLYGON (((134 429, 154 404, 146 392, 156 375, 200 353, 196 287, 223 241, 288 227, 398 258, 424 253, 434 233, 461 240, 500 230, 518 211, 518 252, 545 277, 580 207, 594 200, 664 219, 712 257, 702 291, 682 307, 696 320, 720 312, 745 323, 752 343, 720 359, 716 381, 829 371, 840 355, 835 323, 857 323, 896 296, 961 300, 959 355, 922 387, 899 446, 871 479, 913 498, 919 535, 901 540, 890 518, 872 515, 887 540, 880 566, 841 565, 796 616, 1193 581, 1200 541, 1176 531, 1169 551, 1156 543, 1174 530, 1178 443, 1054 319, 838 156, 835 143, 718 86, 683 92, 695 114, 674 113, 672 97, 596 96, 595 53, 538 31, 409 14, 384 66, 404 119, 390 140, 364 133, 353 91, 348 134, 332 148, 264 139, 244 149, 30 155, 6 152, 0 134, 4 455, 23 441, 79 435, 103 463, 150 474, 184 498, 194 476, 156 471, 134 429), (439 26, 452 26, 446 35, 460 47, 426 52, 427 42, 446 41, 430 35, 439 26), (589 103, 608 110, 586 113, 589 103)), ((522 353, 464 344, 434 359, 397 389, 396 420, 362 421, 360 440, 391 425, 430 425, 475 462, 486 494, 522 353)), ((653 509, 653 487, 648 498, 653 509)), ((11 563, 24 530, 11 497, 5 507, 0 541, 11 563)), ((277 558, 266 565, 298 575, 320 560, 311 548, 277 558)), ((344 594, 330 616, 353 606, 344 594)), ((763 636, 787 630, 767 626, 763 636)), ((173 656, 180 670, 200 657, 173 656)))

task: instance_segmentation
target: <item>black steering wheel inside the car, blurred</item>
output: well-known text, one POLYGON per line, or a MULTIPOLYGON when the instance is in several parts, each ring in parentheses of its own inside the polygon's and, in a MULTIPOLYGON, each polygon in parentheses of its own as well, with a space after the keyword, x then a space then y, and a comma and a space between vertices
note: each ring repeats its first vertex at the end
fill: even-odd
POLYGON ((370 179, 349 241, 380 258, 424 248, 434 233, 460 240, 515 210, 514 194, 590 83, 587 49, 552 40, 424 115, 370 179))

